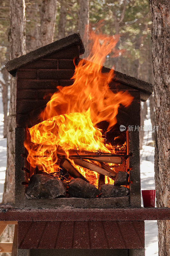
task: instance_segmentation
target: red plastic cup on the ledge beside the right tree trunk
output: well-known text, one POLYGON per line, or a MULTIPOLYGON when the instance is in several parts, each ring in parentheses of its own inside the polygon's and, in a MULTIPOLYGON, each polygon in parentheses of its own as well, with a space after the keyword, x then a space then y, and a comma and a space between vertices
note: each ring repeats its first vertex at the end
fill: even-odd
POLYGON ((156 190, 142 190, 144 207, 155 207, 156 190))

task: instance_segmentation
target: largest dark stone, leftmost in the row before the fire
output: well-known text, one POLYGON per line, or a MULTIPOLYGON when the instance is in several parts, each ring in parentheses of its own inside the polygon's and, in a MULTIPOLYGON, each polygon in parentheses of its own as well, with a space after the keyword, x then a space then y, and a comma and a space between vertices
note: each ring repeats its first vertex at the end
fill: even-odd
POLYGON ((26 194, 31 198, 56 198, 66 195, 63 182, 50 175, 34 174, 31 176, 26 194))

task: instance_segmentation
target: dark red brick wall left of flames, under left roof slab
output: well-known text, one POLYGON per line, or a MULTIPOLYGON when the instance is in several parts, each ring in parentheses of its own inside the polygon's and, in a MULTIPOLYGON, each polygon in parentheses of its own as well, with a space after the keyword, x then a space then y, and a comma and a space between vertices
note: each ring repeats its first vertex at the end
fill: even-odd
POLYGON ((41 120, 39 115, 57 91, 58 85, 73 84, 74 58, 79 58, 79 46, 70 46, 31 62, 17 70, 17 127, 32 127, 41 120))

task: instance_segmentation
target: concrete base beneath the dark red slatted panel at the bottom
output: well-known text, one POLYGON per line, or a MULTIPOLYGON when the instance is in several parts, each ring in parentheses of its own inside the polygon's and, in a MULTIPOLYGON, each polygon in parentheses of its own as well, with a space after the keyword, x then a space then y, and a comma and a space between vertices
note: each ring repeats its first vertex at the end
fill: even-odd
POLYGON ((17 256, 145 256, 144 249, 18 249, 17 256))

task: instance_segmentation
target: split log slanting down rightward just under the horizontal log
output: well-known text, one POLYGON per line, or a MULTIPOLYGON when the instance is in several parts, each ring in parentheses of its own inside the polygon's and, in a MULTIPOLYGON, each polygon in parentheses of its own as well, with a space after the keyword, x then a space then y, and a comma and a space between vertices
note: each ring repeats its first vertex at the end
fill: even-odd
POLYGON ((76 158, 76 159, 74 159, 74 163, 77 164, 77 165, 80 165, 80 166, 82 166, 82 167, 84 167, 86 169, 89 169, 89 170, 92 170, 94 172, 98 172, 100 174, 108 176, 110 178, 114 178, 115 177, 115 175, 113 173, 108 172, 108 171, 102 169, 101 167, 99 167, 99 166, 97 166, 95 164, 91 164, 91 163, 89 163, 89 162, 87 162, 85 160, 76 158))

